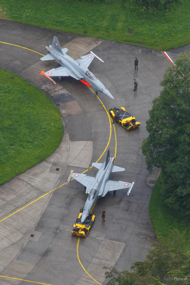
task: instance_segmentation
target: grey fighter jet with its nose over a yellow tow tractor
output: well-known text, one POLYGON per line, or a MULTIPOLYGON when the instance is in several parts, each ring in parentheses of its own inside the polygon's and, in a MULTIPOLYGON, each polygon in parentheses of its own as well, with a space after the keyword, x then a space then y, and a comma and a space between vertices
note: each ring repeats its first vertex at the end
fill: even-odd
POLYGON ((129 188, 127 195, 131 192, 134 182, 112 181, 109 180, 111 172, 124 171, 125 168, 114 165, 114 157, 110 157, 110 151, 107 152, 107 157, 104 163, 93 162, 93 166, 98 168, 99 171, 96 177, 86 176, 86 174, 72 173, 69 176, 67 183, 71 178, 76 179, 85 186, 88 198, 84 205, 81 222, 83 223, 93 208, 93 205, 98 198, 104 197, 109 191, 116 191, 123 188, 129 188))

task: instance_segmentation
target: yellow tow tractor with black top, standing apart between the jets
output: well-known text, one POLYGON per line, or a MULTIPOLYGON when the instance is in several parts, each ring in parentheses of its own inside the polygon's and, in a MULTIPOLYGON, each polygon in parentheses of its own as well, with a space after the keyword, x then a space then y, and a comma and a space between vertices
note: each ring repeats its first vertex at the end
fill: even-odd
POLYGON ((137 128, 140 126, 140 123, 136 121, 135 117, 129 112, 125 111, 124 107, 120 109, 114 107, 109 110, 110 116, 116 120, 122 127, 130 130, 132 128, 137 128))

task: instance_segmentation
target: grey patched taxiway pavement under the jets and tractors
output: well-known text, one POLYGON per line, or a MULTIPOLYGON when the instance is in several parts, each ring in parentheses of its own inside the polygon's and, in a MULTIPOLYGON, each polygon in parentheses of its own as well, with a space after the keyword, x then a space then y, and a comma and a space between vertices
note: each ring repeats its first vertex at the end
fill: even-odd
MULTIPOLYGON (((135 181, 129 196, 125 190, 114 196, 108 193, 98 200, 93 214, 96 220, 90 234, 71 236, 71 228, 86 194, 83 185, 73 180, 65 188, 45 195, 30 206, 0 223, 1 284, 26 284, 30 280, 53 285, 106 284, 103 266, 129 270, 132 263, 145 259, 156 236, 149 216, 151 188, 146 185, 148 171, 141 153, 142 140, 147 137, 146 120, 153 98, 162 89, 159 84, 170 65, 160 51, 130 46, 77 34, 48 30, 35 26, 0 20, 0 67, 26 78, 43 90, 62 113, 65 133, 58 149, 37 166, 0 186, 1 219, 26 206, 66 182, 70 169, 82 173, 103 153, 112 133, 109 148, 115 153, 115 136, 103 105, 87 86, 72 78, 53 83, 40 75, 56 67, 54 62, 42 62, 38 53, 46 55, 44 47, 56 35, 68 54, 78 58, 93 50, 104 60, 94 59, 90 71, 104 83, 114 100, 98 94, 106 109, 125 107, 141 126, 127 132, 114 124, 117 135, 115 165, 124 172, 111 174, 111 180, 135 181), (13 45, 9 45, 9 44, 13 45), (23 49, 21 47, 28 49, 23 49), (31 50, 37 51, 35 53, 31 50), (139 70, 134 69, 134 58, 139 70), (133 78, 138 88, 133 92, 133 78), (59 168, 59 173, 56 171, 59 168), (101 219, 106 209, 106 222, 101 219), (31 237, 31 233, 34 237, 31 237), (79 261, 80 260, 80 261, 79 261), (84 271, 87 270, 89 275, 84 271)), ((169 53, 173 60, 177 53, 169 53)), ((106 152, 99 162, 104 162, 106 152)), ((95 176, 97 169, 88 170, 95 176)), ((28 282, 29 283, 29 282, 28 282)))

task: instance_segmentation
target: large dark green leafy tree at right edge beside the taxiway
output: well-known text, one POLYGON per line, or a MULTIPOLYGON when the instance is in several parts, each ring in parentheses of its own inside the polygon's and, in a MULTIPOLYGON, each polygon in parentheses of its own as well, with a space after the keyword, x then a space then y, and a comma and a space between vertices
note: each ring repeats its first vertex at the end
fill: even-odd
POLYGON ((190 218, 190 52, 168 67, 163 90, 153 100, 146 122, 149 136, 142 142, 147 169, 162 168, 165 202, 190 218))

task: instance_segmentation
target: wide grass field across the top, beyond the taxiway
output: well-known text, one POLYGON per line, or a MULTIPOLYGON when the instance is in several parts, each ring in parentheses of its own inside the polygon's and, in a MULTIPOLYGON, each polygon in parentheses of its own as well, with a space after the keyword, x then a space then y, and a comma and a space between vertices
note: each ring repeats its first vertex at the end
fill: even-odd
POLYGON ((0 17, 167 51, 190 42, 190 0, 166 14, 132 12, 128 1, 0 0, 0 17), (130 33, 129 31, 133 31, 130 33))

